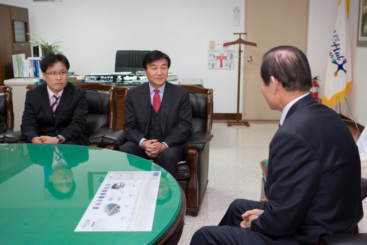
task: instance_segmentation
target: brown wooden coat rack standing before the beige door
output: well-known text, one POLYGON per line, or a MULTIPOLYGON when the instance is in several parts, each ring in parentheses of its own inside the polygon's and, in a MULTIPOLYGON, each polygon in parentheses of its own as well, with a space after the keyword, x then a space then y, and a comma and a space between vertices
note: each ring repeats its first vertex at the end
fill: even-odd
MULTIPOLYGON (((233 34, 239 34, 240 35, 240 38, 237 39, 236 41, 233 41, 233 42, 228 42, 228 43, 224 43, 223 46, 229 46, 229 45, 234 45, 234 44, 239 44, 240 45, 240 48, 238 50, 238 85, 237 85, 237 120, 236 121, 229 121, 227 120, 227 125, 228 126, 231 126, 232 124, 233 125, 246 125, 247 127, 250 126, 250 124, 248 123, 248 121, 245 121, 245 120, 240 120, 240 77, 241 77, 241 53, 243 52, 241 50, 241 44, 244 44, 244 45, 251 45, 251 46, 257 46, 256 43, 252 43, 252 42, 247 42, 245 40, 243 40, 241 38, 241 34, 247 34, 246 32, 245 33, 233 33, 233 34)), ((243 96, 244 97, 244 96, 243 96)))

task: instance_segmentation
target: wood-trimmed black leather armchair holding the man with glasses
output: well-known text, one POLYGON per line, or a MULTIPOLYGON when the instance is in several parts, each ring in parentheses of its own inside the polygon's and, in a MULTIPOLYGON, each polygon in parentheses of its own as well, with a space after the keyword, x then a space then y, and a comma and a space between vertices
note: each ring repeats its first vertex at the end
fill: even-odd
MULTIPOLYGON (((87 139, 85 144, 98 147, 102 136, 115 131, 117 123, 116 86, 98 82, 75 84, 86 90, 88 104, 87 139)), ((21 131, 4 136, 4 143, 21 143, 21 131)))

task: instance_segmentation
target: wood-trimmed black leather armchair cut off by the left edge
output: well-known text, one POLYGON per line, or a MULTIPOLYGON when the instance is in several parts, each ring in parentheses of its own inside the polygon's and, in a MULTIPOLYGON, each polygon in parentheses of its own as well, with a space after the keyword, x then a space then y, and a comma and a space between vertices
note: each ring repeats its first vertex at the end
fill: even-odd
POLYGON ((0 86, 0 117, 6 122, 7 130, 0 133, 0 143, 4 143, 4 135, 9 134, 14 129, 14 112, 11 87, 0 86))

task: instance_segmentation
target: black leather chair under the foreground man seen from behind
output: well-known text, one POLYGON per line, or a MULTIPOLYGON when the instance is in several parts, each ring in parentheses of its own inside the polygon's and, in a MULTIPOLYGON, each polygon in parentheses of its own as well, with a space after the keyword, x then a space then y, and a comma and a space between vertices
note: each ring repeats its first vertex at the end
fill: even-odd
MULTIPOLYGON (((367 198, 367 179, 361 178, 362 200, 367 198)), ((358 227, 355 229, 358 232, 358 227)), ((331 234, 321 238, 323 245, 364 245, 367 244, 367 233, 331 234)))

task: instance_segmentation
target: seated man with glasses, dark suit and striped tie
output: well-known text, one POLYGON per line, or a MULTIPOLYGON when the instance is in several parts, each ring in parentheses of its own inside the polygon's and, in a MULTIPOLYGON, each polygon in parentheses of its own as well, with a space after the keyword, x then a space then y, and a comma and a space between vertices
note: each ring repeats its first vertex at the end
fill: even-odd
POLYGON ((41 61, 44 84, 27 91, 21 131, 30 143, 84 145, 86 91, 68 82, 69 61, 48 53, 41 61))

